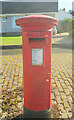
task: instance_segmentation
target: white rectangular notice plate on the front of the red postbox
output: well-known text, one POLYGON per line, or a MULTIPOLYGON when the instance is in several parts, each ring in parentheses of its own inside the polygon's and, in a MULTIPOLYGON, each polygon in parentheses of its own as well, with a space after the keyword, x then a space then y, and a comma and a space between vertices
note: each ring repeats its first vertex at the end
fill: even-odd
POLYGON ((32 49, 32 66, 43 65, 43 48, 32 49))

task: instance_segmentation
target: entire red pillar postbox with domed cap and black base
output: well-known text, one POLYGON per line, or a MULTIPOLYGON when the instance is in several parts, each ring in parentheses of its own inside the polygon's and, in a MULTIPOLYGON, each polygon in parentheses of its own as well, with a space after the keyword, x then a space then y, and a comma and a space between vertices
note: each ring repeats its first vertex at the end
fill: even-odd
POLYGON ((30 15, 17 19, 16 25, 22 28, 24 116, 35 118, 39 113, 41 117, 49 116, 52 27, 57 25, 57 19, 30 15))

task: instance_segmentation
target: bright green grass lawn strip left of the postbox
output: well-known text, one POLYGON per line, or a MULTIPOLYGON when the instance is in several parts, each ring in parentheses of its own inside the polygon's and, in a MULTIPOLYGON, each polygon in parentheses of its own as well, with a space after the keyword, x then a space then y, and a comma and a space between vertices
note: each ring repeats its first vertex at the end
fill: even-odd
POLYGON ((2 36, 0 45, 22 45, 22 36, 2 36))

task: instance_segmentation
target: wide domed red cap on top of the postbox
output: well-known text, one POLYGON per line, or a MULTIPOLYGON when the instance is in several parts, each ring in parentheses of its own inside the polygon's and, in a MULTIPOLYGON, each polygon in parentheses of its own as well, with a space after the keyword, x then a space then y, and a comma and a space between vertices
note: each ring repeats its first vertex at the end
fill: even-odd
POLYGON ((29 15, 15 22, 24 31, 48 31, 58 23, 57 19, 46 15, 29 15))

